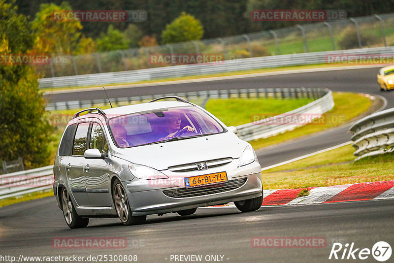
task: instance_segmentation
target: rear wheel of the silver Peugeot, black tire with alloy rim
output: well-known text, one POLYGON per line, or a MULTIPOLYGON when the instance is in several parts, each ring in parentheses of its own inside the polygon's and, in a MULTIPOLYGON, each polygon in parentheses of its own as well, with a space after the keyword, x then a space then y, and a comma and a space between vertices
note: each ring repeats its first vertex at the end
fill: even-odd
POLYGON ((89 218, 80 217, 75 211, 74 204, 71 201, 70 194, 67 192, 66 188, 63 189, 61 193, 62 198, 62 208, 63 216, 67 226, 70 229, 85 228, 89 224, 89 218))

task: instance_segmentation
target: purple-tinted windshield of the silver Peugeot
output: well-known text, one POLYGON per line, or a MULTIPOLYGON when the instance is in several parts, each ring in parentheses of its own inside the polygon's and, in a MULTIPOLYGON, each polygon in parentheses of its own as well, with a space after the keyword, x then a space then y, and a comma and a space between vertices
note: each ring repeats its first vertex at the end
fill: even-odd
POLYGON ((120 148, 223 132, 223 127, 196 106, 164 108, 109 119, 108 127, 120 148))

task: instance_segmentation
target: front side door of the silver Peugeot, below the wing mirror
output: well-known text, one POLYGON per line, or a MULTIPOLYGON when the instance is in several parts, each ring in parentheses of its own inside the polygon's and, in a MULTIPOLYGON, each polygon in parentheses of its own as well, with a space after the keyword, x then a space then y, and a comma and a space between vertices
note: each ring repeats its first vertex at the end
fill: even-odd
MULTIPOLYGON (((108 152, 108 144, 102 127, 98 122, 91 123, 89 136, 89 149, 99 149, 108 152)), ((86 182, 86 193, 91 206, 111 206, 110 196, 110 168, 109 158, 106 159, 85 159, 84 176, 86 182)))

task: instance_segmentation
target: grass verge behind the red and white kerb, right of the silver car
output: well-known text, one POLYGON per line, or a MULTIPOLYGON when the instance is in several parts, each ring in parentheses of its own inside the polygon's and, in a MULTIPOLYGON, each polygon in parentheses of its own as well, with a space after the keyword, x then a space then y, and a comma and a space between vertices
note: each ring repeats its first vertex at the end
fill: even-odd
POLYGON ((264 189, 296 189, 394 180, 393 154, 354 162, 355 149, 346 145, 262 172, 264 189))

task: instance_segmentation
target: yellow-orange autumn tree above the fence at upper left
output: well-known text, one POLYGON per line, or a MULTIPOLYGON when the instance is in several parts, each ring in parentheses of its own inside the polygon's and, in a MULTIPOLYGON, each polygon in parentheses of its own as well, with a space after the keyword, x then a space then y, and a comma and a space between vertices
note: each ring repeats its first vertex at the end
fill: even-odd
POLYGON ((40 5, 40 10, 33 20, 33 31, 36 34, 34 49, 38 53, 70 55, 78 47, 82 25, 78 20, 55 19, 54 12, 71 11, 71 6, 63 2, 60 6, 54 3, 40 5))

